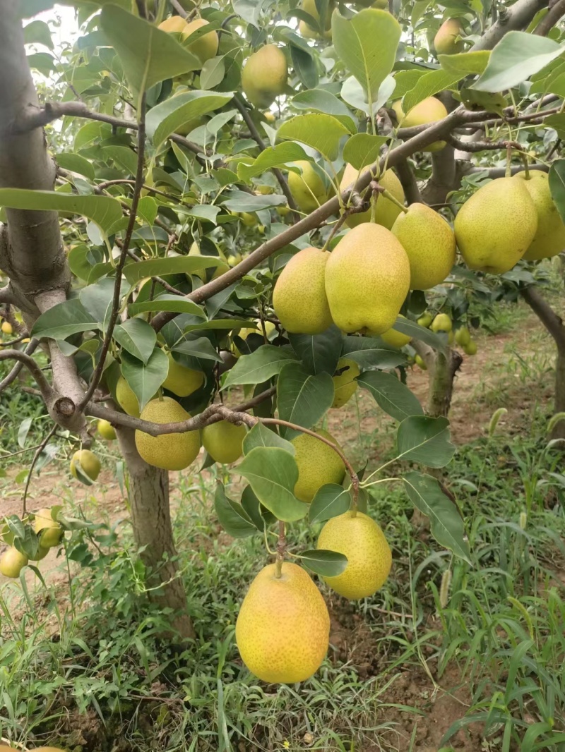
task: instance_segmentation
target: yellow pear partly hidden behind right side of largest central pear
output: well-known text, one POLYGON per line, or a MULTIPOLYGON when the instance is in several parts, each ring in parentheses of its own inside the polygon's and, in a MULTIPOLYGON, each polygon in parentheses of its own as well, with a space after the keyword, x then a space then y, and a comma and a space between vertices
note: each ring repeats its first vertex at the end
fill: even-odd
POLYGON ((408 255, 411 290, 430 290, 444 281, 455 263, 455 234, 441 214, 411 204, 396 218, 392 235, 408 255))

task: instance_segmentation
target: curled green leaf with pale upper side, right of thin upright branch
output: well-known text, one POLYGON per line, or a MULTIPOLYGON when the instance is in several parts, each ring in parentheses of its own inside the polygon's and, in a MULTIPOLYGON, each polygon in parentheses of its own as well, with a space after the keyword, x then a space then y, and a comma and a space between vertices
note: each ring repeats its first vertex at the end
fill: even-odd
MULTIPOLYGON (((163 32, 161 32, 163 33, 163 32)), ((155 147, 165 141, 190 120, 196 120, 206 113, 219 110, 231 99, 233 92, 191 91, 182 92, 165 99, 147 114, 147 133, 155 147)))

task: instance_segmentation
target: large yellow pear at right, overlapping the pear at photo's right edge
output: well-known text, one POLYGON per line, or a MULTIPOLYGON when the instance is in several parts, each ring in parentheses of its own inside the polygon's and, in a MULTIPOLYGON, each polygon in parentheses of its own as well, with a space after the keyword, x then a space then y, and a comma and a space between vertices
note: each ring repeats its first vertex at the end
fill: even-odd
POLYGON ((455 238, 470 269, 503 274, 536 236, 536 206, 524 180, 498 177, 482 186, 455 217, 455 238))

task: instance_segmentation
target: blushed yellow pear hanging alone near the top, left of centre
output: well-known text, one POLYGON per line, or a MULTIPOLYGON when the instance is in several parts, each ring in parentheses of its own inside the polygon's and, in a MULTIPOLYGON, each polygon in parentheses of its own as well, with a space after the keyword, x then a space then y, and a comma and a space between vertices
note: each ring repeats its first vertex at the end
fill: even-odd
POLYGON ((285 53, 276 44, 265 44, 243 65, 241 85, 249 102, 264 109, 284 92, 288 77, 285 53))

